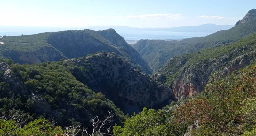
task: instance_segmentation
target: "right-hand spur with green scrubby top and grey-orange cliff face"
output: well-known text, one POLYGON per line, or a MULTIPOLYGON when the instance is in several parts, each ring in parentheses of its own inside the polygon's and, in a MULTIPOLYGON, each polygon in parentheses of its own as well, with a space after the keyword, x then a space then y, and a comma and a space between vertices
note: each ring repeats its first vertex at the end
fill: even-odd
POLYGON ((154 77, 158 81, 166 82, 178 99, 193 96, 194 93, 204 90, 212 74, 216 73, 217 78, 220 78, 252 64, 256 59, 255 37, 254 34, 234 44, 174 57, 154 77), (204 58, 204 54, 210 52, 214 57, 204 58))

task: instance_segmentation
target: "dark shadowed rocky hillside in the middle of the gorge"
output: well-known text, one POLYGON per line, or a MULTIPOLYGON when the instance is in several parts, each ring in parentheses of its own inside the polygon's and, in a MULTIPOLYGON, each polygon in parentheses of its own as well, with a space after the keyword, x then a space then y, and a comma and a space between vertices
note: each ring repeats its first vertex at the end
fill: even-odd
POLYGON ((76 79, 93 91, 102 92, 124 113, 140 112, 143 107, 158 109, 175 100, 168 87, 134 70, 115 54, 101 52, 65 63, 78 67, 72 70, 76 79))

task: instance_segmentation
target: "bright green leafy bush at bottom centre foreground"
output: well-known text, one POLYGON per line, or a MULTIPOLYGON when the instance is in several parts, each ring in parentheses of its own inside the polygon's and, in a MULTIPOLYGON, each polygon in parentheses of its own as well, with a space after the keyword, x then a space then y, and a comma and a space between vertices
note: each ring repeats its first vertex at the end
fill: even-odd
POLYGON ((153 109, 143 111, 124 122, 124 128, 114 126, 115 135, 119 136, 167 136, 168 128, 164 123, 164 112, 153 109))

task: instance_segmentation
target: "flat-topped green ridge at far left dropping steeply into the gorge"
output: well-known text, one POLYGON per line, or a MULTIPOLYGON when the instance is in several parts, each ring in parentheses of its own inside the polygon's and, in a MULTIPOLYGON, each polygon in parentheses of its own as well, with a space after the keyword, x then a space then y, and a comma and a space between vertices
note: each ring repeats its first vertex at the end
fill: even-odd
POLYGON ((135 69, 151 73, 151 69, 137 51, 112 29, 105 31, 68 30, 35 35, 5 36, 1 40, 4 41, 4 44, 0 46, 1 56, 23 64, 59 61, 61 58, 77 58, 97 51, 108 51, 123 56, 134 64, 135 69))

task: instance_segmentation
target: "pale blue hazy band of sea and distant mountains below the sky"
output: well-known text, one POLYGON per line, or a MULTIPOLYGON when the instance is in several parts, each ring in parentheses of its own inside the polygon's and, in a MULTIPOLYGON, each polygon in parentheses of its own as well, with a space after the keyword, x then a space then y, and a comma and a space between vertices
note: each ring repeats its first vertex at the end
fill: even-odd
POLYGON ((30 35, 43 32, 55 32, 65 30, 105 30, 113 28, 118 34, 124 37, 125 40, 140 40, 140 39, 184 39, 191 37, 207 36, 213 32, 229 29, 233 25, 215 25, 203 24, 199 26, 184 26, 171 28, 136 28, 128 26, 90 26, 90 27, 29 27, 29 26, 0 26, 0 36, 18 36, 30 35), (202 27, 202 28, 201 28, 202 27))

